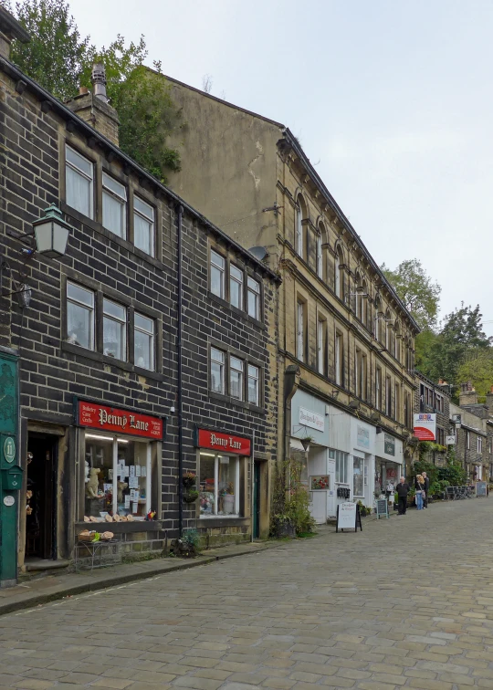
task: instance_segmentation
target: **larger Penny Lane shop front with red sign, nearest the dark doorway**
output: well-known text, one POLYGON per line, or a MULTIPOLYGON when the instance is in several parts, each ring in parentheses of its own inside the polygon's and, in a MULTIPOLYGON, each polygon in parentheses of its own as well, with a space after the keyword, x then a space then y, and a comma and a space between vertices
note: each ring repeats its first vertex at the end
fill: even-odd
MULTIPOLYGON (((113 533, 115 561, 163 549, 161 417, 76 401, 76 526, 113 533)), ((78 559, 84 553, 77 554, 78 559)))

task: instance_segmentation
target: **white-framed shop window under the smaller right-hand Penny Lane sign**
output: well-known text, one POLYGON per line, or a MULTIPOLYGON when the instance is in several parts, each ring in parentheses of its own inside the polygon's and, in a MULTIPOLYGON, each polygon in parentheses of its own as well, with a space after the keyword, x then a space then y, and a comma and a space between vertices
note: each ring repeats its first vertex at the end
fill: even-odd
POLYGON ((239 457, 201 452, 200 517, 239 516, 242 484, 239 457))

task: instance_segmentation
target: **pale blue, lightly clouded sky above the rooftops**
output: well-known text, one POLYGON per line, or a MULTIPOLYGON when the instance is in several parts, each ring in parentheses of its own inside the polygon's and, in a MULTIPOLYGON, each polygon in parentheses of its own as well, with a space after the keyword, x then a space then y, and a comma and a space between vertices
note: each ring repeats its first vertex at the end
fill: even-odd
POLYGON ((493 0, 69 0, 81 34, 287 125, 378 264, 493 335, 493 0), (490 323, 487 323, 490 321, 490 323))

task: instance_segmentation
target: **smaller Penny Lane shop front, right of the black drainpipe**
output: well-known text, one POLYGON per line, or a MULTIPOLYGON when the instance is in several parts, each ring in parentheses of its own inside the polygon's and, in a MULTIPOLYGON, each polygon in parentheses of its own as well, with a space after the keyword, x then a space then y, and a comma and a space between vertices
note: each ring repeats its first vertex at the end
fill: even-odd
POLYGON ((199 500, 197 528, 209 544, 247 540, 252 520, 257 524, 263 495, 262 466, 253 464, 252 440, 228 434, 224 429, 197 426, 194 444, 197 454, 199 500), (253 477, 256 491, 250 490, 253 477), (257 496, 257 500, 255 497, 257 496), (254 500, 252 500, 254 499, 254 500))

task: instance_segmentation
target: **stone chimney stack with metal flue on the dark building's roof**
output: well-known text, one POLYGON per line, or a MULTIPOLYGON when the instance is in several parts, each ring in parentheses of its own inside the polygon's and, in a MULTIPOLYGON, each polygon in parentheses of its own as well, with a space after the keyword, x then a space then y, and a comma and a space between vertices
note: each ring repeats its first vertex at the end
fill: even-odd
POLYGON ((90 80, 92 93, 85 87, 80 87, 79 95, 75 99, 68 100, 68 108, 118 146, 120 120, 117 111, 110 106, 106 95, 106 70, 102 62, 92 66, 90 80))

